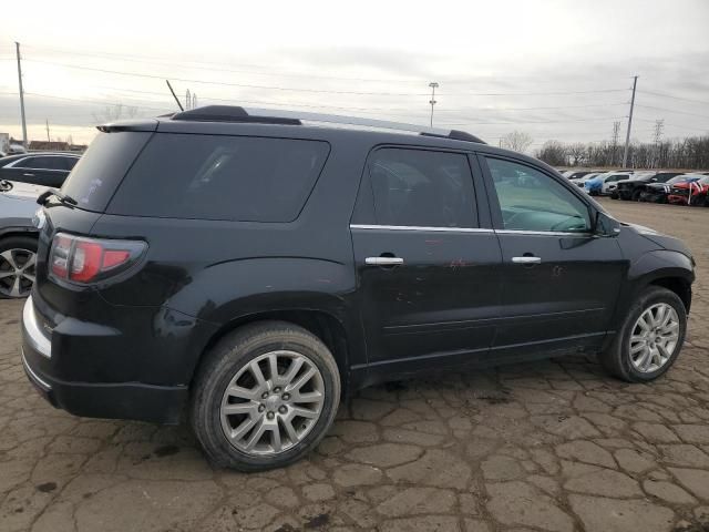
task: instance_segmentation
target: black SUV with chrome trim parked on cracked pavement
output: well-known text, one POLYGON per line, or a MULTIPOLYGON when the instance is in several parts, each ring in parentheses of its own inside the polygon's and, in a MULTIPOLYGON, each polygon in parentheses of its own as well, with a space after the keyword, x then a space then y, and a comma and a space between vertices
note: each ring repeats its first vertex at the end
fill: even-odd
POLYGON ((690 252, 470 134, 243 108, 100 130, 41 198, 22 319, 30 380, 75 415, 186 410, 258 470, 376 382, 567 352, 643 382, 681 349, 690 252))

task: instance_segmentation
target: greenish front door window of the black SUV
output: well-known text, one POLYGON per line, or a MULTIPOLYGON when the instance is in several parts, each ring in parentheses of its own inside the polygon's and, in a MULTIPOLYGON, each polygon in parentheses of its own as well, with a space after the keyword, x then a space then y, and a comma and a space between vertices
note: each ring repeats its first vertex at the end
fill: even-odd
POLYGON ((524 164, 486 161, 505 229, 589 231, 588 207, 564 185, 524 164))

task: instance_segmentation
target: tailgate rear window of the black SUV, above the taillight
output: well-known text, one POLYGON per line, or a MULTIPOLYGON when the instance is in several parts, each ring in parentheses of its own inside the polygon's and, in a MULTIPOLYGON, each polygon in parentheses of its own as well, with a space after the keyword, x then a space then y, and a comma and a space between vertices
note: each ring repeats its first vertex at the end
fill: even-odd
POLYGON ((151 134, 100 133, 66 177, 62 192, 81 208, 103 212, 151 134))

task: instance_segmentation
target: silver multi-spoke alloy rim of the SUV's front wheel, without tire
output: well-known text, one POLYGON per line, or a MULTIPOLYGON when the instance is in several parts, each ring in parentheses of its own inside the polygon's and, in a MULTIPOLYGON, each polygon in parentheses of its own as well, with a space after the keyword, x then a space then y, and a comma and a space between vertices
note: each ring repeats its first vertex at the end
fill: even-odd
POLYGON ((630 361, 643 374, 657 371, 671 358, 679 340, 679 317, 671 305, 645 309, 630 334, 630 361))

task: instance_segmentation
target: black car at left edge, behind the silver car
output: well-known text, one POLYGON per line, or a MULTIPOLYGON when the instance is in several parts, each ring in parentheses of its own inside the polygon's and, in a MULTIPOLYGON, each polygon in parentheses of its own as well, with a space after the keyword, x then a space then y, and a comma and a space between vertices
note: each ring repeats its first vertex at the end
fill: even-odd
POLYGON ((0 180, 61 187, 79 162, 73 153, 32 152, 0 158, 0 180))

